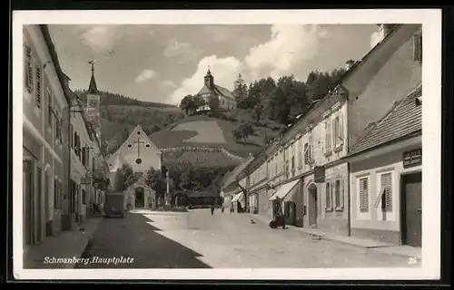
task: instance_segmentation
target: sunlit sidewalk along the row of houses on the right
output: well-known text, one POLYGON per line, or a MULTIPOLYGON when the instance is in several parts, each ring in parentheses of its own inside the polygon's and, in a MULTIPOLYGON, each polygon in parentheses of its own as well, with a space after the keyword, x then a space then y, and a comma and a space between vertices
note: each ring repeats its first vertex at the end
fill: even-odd
MULTIPOLYGON (((268 224, 271 219, 262 217, 260 215, 249 214, 252 218, 261 220, 262 222, 268 224)), ((287 226, 291 230, 298 230, 305 234, 309 234, 312 237, 321 237, 322 239, 338 242, 354 247, 363 247, 372 249, 374 251, 380 251, 383 254, 397 255, 397 256, 408 256, 416 257, 421 259, 421 248, 420 247, 410 247, 410 246, 397 246, 395 244, 385 243, 374 239, 368 238, 358 238, 358 237, 344 237, 335 235, 332 233, 322 232, 314 228, 305 228, 305 227, 294 227, 287 226)))

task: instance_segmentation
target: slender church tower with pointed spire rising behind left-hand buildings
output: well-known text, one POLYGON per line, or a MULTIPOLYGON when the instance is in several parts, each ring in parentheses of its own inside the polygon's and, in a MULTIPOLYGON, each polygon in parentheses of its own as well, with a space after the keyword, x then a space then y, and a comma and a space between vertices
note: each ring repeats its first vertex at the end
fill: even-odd
POLYGON ((96 80, 94 80, 94 61, 88 62, 92 64, 92 78, 88 85, 88 92, 86 96, 86 109, 85 115, 88 121, 92 124, 94 132, 98 140, 101 138, 101 120, 100 120, 100 102, 101 96, 99 95, 98 88, 96 86, 96 80))

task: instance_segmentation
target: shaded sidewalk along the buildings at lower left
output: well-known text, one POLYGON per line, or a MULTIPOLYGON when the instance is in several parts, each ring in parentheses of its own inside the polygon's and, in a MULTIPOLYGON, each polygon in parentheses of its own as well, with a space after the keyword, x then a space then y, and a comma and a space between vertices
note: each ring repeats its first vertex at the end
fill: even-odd
POLYGON ((103 218, 89 218, 72 231, 62 231, 56 237, 45 237, 42 244, 30 247, 24 255, 24 268, 74 268, 74 264, 44 263, 44 258, 80 257, 102 220, 103 218))

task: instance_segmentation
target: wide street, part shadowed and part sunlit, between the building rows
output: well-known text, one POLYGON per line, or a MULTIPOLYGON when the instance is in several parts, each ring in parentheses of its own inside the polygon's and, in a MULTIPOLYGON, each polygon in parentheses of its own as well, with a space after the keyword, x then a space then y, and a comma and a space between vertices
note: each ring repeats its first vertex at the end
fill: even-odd
MULTIPOLYGON (((409 266, 404 256, 271 229, 241 214, 137 212, 104 218, 77 268, 266 268, 409 266), (116 258, 116 263, 113 262, 116 258), (110 259, 110 260, 109 260, 110 259), (107 262, 110 261, 110 262, 107 262)), ((413 266, 420 266, 416 264, 413 266)))

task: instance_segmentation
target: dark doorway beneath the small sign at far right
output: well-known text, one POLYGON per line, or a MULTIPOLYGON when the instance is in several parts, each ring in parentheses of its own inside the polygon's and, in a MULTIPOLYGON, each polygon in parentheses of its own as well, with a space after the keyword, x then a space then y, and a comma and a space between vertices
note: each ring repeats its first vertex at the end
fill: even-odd
POLYGON ((402 244, 421 247, 422 173, 401 176, 402 244))

